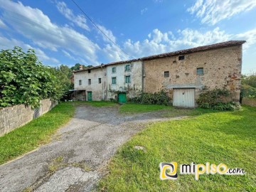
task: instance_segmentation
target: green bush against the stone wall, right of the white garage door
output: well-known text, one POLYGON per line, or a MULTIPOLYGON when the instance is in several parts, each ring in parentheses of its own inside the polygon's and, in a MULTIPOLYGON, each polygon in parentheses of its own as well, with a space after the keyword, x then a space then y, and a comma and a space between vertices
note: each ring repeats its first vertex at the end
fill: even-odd
POLYGON ((229 97, 230 92, 228 90, 208 90, 205 89, 199 96, 196 102, 198 107, 220 110, 220 111, 235 111, 240 110, 240 104, 235 102, 223 102, 225 97, 229 97))

